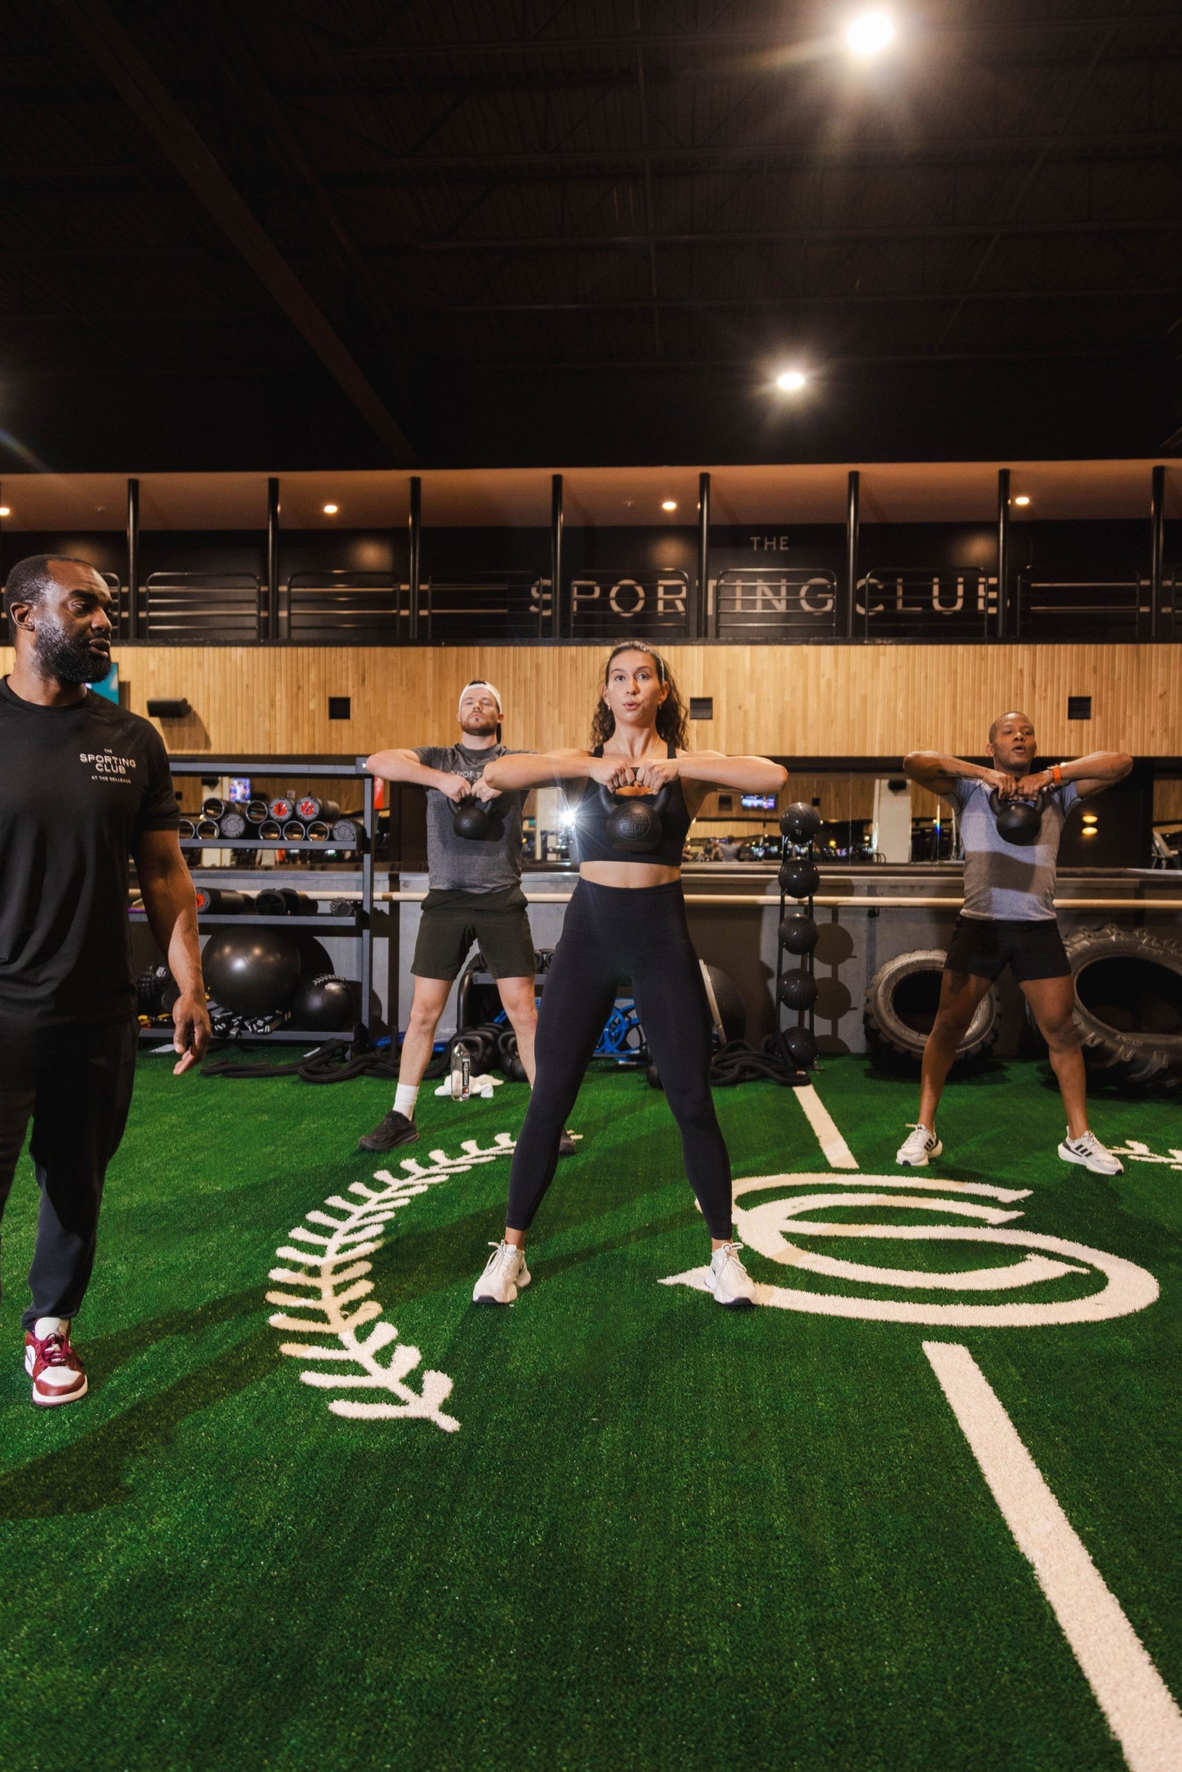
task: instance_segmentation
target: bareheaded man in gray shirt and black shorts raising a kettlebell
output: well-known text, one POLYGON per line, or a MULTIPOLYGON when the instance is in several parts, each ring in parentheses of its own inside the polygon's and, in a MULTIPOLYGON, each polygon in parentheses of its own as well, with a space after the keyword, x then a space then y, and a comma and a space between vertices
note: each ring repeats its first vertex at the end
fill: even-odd
POLYGON ((1035 764, 1035 728, 1019 712, 994 719, 985 751, 991 767, 941 751, 911 751, 904 758, 913 781, 957 808, 964 909, 952 934, 939 1008, 923 1047, 920 1118, 895 1161, 921 1170, 941 1155, 945 1146, 936 1136, 936 1108, 945 1079, 978 1003, 1008 966, 1047 1042, 1063 1097, 1067 1138, 1060 1157, 1095 1175, 1120 1175, 1118 1159, 1088 1131, 1083 1053, 1074 1024, 1076 985, 1054 918, 1054 865, 1070 808, 1127 776, 1132 758, 1124 751, 1093 751, 1040 769, 1035 764), (1005 838, 991 804, 994 792, 999 804, 1037 797, 1040 826, 1033 842, 1012 843, 1005 838))

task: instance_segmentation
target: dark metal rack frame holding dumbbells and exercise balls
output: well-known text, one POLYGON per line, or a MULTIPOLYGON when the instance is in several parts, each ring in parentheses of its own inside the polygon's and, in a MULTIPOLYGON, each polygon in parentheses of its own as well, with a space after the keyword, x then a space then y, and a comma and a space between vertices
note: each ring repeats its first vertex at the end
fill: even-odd
MULTIPOLYGON (((340 757, 319 762, 308 762, 299 757, 170 757, 168 769, 174 776, 275 776, 276 780, 289 781, 292 776, 307 780, 323 778, 340 778, 356 776, 362 785, 363 796, 363 815, 362 815, 362 842, 358 847, 360 858, 360 886, 362 893, 358 898, 356 911, 349 916, 253 916, 250 911, 243 911, 232 916, 220 916, 214 913, 198 913, 198 929, 216 929, 218 925, 237 923, 264 923, 269 929, 319 929, 324 934, 330 930, 349 930, 354 936, 358 950, 358 983, 362 1001, 358 1006, 360 1017, 353 1028, 354 1049, 363 1049, 369 1045, 369 1005, 372 999, 374 983, 374 845, 377 835, 377 812, 374 806, 374 776, 365 771, 363 757, 340 757)), ((264 840, 259 836, 193 836, 183 838, 183 851, 209 851, 209 849, 284 849, 284 851, 307 851, 308 854, 324 856, 333 852, 333 843, 308 842, 287 842, 280 838, 278 842, 264 840)), ((218 884, 225 884, 220 881, 218 884)), ((243 870, 243 881, 236 882, 236 890, 250 890, 252 884, 264 884, 257 875, 243 870)), ((271 884, 271 881, 266 881, 271 884)), ((323 1028, 276 1028, 273 1033, 252 1033, 246 1038, 253 1042, 299 1042, 303 1045, 319 1045, 328 1038, 344 1038, 346 1030, 331 1035, 323 1028)), ((142 1040, 170 1040, 172 1033, 167 1026, 159 1028, 140 1028, 142 1040)))

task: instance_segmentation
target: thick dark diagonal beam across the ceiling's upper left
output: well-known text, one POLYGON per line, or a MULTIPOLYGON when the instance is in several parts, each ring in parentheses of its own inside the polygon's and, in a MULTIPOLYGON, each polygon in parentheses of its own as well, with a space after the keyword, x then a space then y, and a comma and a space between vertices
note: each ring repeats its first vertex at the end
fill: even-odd
POLYGON ((337 386, 390 452, 392 464, 411 466, 416 457, 406 432, 110 7, 103 0, 50 4, 321 358, 337 386))

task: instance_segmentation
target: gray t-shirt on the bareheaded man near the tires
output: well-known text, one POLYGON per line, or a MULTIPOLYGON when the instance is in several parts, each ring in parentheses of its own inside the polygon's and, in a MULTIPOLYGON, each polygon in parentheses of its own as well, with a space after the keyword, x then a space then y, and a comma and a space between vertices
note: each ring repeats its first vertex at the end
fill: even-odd
POLYGON ((948 789, 960 812, 964 847, 964 909, 960 916, 996 918, 1015 923, 1054 920, 1054 859, 1067 813, 1079 799, 1074 781, 1056 787, 1042 808, 1042 833, 1037 843, 1021 849, 998 833, 998 819, 989 804, 989 783, 960 776, 948 789))

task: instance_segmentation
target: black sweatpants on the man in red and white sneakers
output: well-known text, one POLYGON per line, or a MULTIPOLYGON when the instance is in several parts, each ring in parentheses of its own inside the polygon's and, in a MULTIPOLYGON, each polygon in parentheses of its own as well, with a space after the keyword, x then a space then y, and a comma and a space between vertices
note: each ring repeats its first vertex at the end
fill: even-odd
POLYGON ((76 1317, 94 1267, 106 1164, 119 1150, 131 1086, 135 1021, 58 1028, 0 1021, 0 1217, 32 1120, 28 1154, 41 1187, 32 1304, 39 1317, 76 1317))

